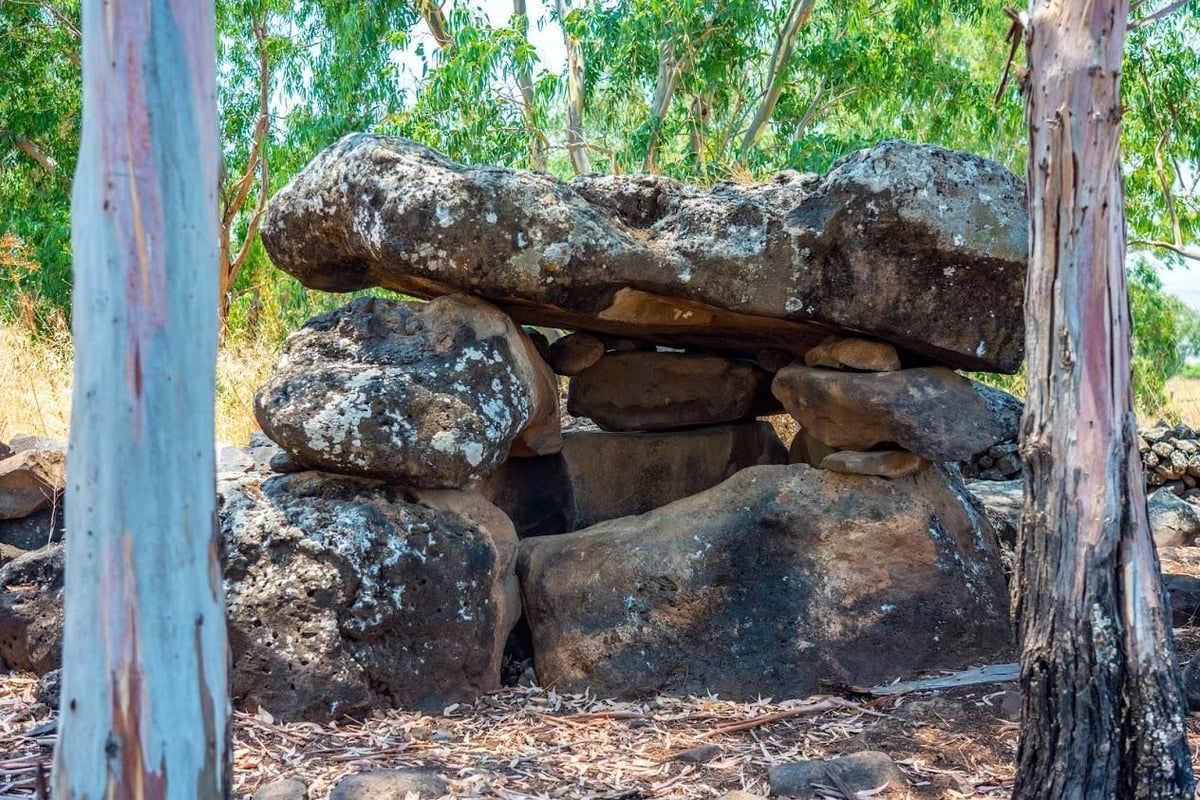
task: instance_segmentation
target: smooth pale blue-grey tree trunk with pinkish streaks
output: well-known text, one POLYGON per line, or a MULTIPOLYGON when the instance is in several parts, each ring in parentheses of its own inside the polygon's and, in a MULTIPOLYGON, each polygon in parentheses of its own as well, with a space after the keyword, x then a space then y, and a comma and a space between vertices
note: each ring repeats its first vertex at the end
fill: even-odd
POLYGON ((223 798, 214 5, 82 5, 54 796, 223 798))

